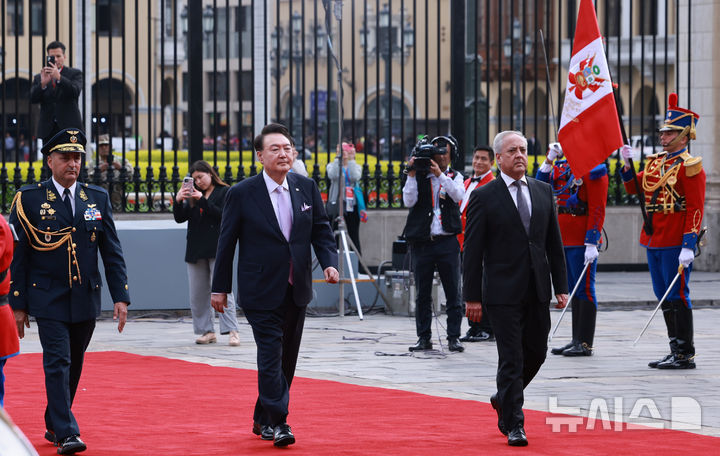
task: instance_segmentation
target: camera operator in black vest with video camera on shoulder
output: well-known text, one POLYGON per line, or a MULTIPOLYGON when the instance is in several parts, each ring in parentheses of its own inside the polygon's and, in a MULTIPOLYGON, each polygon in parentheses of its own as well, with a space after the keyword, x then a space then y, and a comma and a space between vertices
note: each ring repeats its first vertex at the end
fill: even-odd
POLYGON ((439 136, 420 140, 408 162, 403 202, 410 208, 404 236, 410 244, 415 272, 415 325, 418 341, 409 350, 432 349, 432 282, 435 268, 447 298, 447 339, 450 351, 462 352, 460 324, 460 207, 465 193, 462 175, 449 168, 457 141, 439 136))

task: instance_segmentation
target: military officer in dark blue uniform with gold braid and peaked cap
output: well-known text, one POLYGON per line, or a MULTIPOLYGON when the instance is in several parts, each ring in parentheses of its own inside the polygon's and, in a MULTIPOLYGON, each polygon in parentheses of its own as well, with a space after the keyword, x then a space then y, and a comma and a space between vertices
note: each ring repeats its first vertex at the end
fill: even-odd
POLYGON ((42 152, 52 177, 21 188, 10 213, 19 238, 10 266, 10 305, 20 338, 30 327, 28 315, 37 323, 47 394, 45 438, 57 445, 58 454, 86 449, 71 407, 100 315, 98 252, 120 332, 130 303, 108 193, 77 182, 84 146, 79 129, 50 139, 42 152))

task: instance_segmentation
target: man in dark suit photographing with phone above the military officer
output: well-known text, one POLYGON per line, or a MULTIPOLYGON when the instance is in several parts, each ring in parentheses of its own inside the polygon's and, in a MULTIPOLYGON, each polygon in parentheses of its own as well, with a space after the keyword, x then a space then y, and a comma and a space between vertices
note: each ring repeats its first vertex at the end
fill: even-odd
POLYGON ((43 143, 60 130, 83 124, 78 109, 82 71, 64 64, 65 45, 59 41, 48 44, 43 69, 30 88, 30 101, 40 103, 37 136, 43 143))

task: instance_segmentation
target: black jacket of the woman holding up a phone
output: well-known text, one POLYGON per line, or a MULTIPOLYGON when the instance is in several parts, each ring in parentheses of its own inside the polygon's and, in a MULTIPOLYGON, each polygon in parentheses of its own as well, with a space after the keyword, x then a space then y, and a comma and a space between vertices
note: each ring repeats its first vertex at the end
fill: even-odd
POLYGON ((188 222, 185 261, 197 263, 197 260, 215 258, 217 241, 220 237, 220 220, 225 202, 225 194, 230 187, 218 187, 210 193, 208 199, 200 198, 190 207, 188 200, 173 204, 175 221, 188 222))

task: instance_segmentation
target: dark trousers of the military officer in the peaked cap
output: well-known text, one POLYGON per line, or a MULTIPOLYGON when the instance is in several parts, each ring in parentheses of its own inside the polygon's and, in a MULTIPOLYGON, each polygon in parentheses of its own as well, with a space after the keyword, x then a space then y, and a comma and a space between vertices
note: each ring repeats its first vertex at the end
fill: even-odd
POLYGON ((45 427, 55 433, 58 440, 79 435, 75 416, 70 410, 75 399, 85 350, 93 331, 95 320, 66 323, 48 318, 37 318, 40 344, 43 348, 45 370, 45 427))

